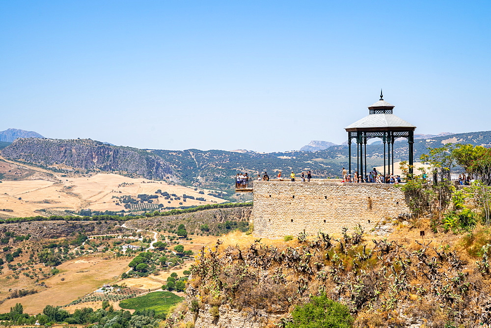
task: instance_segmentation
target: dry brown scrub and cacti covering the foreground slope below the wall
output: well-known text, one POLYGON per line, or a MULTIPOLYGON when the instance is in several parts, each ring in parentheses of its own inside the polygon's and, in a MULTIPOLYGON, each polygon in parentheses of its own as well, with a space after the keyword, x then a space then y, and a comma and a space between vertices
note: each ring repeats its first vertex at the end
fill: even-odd
POLYGON ((321 293, 347 304, 359 327, 490 324, 488 257, 476 251, 490 242, 489 231, 433 234, 425 219, 394 224, 386 239, 359 233, 290 242, 224 236, 215 247, 203 247, 191 267, 187 308, 198 313, 175 312, 169 324, 214 309, 218 322, 220 311, 235 309, 244 316, 262 311, 263 325, 273 327, 321 293))

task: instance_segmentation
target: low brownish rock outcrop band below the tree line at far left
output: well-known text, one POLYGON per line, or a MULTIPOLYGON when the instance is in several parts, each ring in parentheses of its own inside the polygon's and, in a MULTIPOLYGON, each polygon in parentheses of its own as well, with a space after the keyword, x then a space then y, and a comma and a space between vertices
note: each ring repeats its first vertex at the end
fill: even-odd
POLYGON ((0 232, 14 232, 18 236, 30 234, 34 238, 66 237, 72 233, 92 235, 112 232, 121 224, 119 221, 29 221, 21 223, 1 223, 0 232))

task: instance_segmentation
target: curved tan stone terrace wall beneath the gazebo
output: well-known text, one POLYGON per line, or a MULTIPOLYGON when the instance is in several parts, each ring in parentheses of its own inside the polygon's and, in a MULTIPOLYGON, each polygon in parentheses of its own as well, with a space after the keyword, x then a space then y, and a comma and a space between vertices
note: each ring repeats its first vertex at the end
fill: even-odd
POLYGON ((358 223, 366 230, 379 221, 410 213, 406 196, 394 185, 254 181, 254 235, 297 236, 319 230, 339 233, 358 223))

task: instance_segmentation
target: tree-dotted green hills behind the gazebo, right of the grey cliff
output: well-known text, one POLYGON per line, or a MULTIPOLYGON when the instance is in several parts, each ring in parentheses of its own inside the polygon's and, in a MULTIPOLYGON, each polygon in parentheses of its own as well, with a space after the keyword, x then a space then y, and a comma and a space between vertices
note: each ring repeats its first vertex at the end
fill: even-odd
MULTIPOLYGON (((432 139, 414 140, 414 158, 426 153, 428 147, 441 147, 446 142, 470 143, 473 145, 491 146, 491 131, 470 132, 455 134, 432 139)), ((352 154, 356 154, 356 144, 353 144, 352 154)), ((407 141, 394 143, 394 160, 408 159, 407 141)), ((164 158, 172 170, 180 175, 189 185, 209 189, 231 191, 233 182, 231 177, 239 171, 249 174, 267 171, 270 176, 282 170, 283 175, 290 171, 311 170, 316 178, 337 177, 343 166, 348 166, 348 146, 332 146, 316 152, 275 152, 260 154, 255 152, 238 153, 224 150, 151 150, 164 158)), ((368 166, 383 164, 383 146, 367 145, 368 166)), ((356 164, 353 158, 352 163, 356 164)))

